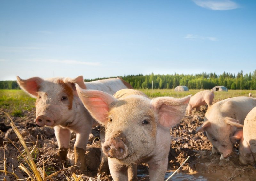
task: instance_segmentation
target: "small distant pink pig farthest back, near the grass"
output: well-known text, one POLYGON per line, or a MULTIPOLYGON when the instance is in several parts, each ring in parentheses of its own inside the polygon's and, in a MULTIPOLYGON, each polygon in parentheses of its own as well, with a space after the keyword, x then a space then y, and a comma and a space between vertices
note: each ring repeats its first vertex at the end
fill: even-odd
POLYGON ((189 101, 189 104, 187 107, 188 114, 191 113, 191 110, 193 108, 196 108, 196 111, 199 111, 200 105, 207 104, 208 107, 210 107, 212 105, 213 98, 214 98, 213 89, 211 91, 204 90, 204 91, 197 92, 194 96, 191 97, 189 101))

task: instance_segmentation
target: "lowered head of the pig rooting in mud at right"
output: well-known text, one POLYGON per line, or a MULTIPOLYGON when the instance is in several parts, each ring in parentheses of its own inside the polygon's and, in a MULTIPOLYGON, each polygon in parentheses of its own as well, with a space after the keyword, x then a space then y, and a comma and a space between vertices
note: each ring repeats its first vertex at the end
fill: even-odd
POLYGON ((196 132, 206 131, 207 138, 211 141, 213 146, 213 152, 219 151, 223 154, 224 158, 228 157, 233 151, 233 144, 231 137, 236 131, 237 127, 243 127, 238 123, 238 120, 229 117, 219 116, 219 121, 207 120, 197 128, 196 132))

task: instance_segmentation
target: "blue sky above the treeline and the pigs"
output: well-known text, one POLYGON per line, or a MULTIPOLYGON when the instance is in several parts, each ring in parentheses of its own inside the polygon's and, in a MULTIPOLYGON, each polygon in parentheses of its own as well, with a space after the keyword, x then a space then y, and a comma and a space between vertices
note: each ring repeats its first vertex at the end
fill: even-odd
POLYGON ((0 80, 256 69, 256 1, 0 0, 0 80))

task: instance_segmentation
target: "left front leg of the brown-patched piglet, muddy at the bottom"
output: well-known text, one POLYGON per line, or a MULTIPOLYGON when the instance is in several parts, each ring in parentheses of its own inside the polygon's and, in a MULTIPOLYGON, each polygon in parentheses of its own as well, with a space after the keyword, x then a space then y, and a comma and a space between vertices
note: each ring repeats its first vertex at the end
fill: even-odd
POLYGON ((70 141, 70 130, 60 126, 54 127, 54 133, 57 138, 59 152, 58 155, 62 160, 67 159, 68 145, 70 141))

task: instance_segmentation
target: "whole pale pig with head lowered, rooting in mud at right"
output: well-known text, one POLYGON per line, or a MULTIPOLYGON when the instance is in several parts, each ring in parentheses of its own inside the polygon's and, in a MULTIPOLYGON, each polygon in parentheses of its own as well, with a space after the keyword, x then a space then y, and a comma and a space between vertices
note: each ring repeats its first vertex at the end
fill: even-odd
POLYGON ((213 104, 205 113, 204 123, 196 132, 206 131, 212 143, 212 153, 218 151, 223 158, 233 151, 230 138, 237 128, 242 128, 248 112, 256 106, 256 98, 239 96, 228 98, 213 104))

